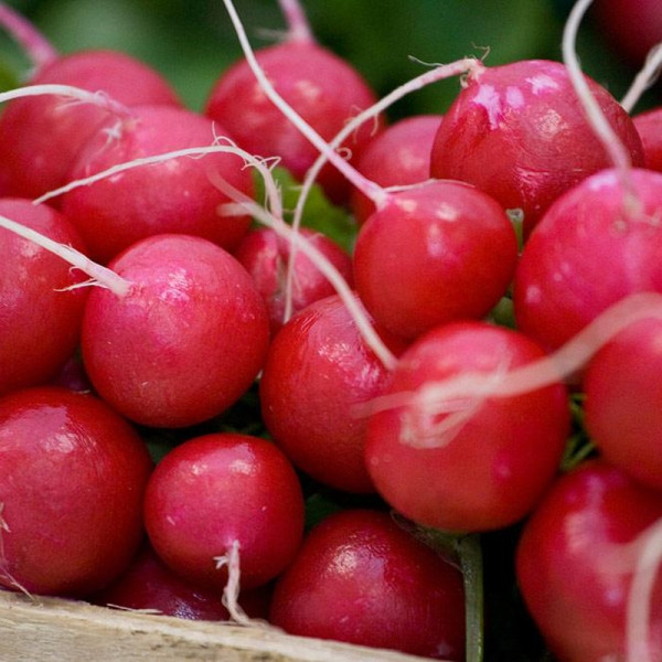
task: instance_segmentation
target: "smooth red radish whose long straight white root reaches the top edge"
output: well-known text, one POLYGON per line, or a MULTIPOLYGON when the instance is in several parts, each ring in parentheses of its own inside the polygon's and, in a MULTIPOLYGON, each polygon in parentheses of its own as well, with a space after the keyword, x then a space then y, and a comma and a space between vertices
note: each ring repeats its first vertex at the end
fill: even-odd
POLYGON ((495 200, 462 182, 430 181, 388 194, 361 227, 354 279, 375 321, 412 339, 487 316, 516 260, 515 232, 495 200))

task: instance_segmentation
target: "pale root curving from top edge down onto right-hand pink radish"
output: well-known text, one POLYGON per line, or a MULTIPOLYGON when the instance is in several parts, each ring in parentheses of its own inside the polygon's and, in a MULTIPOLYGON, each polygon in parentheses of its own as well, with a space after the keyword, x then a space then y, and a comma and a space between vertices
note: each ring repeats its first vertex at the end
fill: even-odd
POLYGON ((637 210, 639 197, 634 192, 631 170, 632 162, 628 150, 617 136, 616 131, 605 117, 600 105, 594 97, 590 87, 584 76, 576 52, 577 32, 584 14, 590 7, 592 0, 577 0, 566 21, 562 52, 563 58, 580 104, 584 106, 586 117, 600 142, 607 150, 609 158, 619 173, 619 179, 624 191, 626 209, 637 210))

